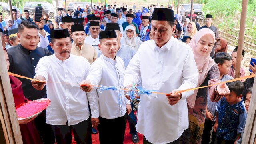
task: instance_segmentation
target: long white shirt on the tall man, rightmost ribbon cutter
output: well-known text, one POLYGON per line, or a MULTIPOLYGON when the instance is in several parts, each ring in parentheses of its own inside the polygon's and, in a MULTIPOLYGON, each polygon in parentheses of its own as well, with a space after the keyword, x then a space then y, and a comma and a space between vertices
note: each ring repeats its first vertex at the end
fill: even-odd
MULTIPOLYGON (((198 70, 192 49, 174 37, 161 48, 154 40, 142 43, 126 68, 124 86, 137 84, 140 78, 146 89, 164 93, 196 87, 198 70)), ((183 92, 174 106, 163 94, 142 95, 136 130, 155 144, 177 140, 188 128, 186 98, 192 94, 183 92)))

